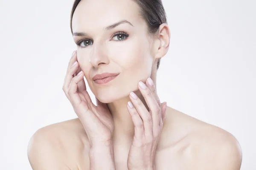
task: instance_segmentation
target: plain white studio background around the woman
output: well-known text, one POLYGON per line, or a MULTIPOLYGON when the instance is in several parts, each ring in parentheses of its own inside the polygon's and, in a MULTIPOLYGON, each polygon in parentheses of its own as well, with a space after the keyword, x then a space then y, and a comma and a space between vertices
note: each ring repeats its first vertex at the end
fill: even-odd
MULTIPOLYGON (((0 169, 31 170, 30 137, 76 118, 62 91, 73 0, 0 1, 0 169)), ((163 0, 171 30, 160 99, 232 133, 256 169, 256 1, 163 0)), ((92 95, 92 93, 90 92, 92 95)))

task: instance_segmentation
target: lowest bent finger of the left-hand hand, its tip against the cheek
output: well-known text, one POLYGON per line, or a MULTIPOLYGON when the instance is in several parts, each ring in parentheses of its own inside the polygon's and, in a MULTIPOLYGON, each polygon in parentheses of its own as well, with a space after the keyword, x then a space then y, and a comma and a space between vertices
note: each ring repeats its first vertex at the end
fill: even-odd
MULTIPOLYGON (((78 94, 78 86, 77 83, 81 81, 83 78, 84 73, 81 71, 76 77, 71 80, 70 87, 68 90, 68 95, 70 97, 70 102, 72 103, 73 107, 76 108, 81 104, 81 98, 78 94)), ((88 109, 88 108, 87 108, 88 109)))

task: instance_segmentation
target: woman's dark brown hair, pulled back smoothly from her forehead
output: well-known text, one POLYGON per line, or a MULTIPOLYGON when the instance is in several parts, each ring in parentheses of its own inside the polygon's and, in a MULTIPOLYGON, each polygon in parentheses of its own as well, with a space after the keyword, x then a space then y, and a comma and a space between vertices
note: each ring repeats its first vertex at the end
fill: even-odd
MULTIPOLYGON (((71 33, 73 34, 72 30, 72 18, 73 14, 76 10, 76 7, 80 3, 81 0, 75 0, 73 3, 71 15, 70 15, 70 28, 71 33)), ((148 33, 155 34, 159 26, 162 23, 167 24, 167 17, 166 12, 163 8, 162 0, 134 0, 140 6, 140 16, 146 21, 148 25, 148 33)), ((157 69, 160 65, 160 59, 157 61, 157 69)))

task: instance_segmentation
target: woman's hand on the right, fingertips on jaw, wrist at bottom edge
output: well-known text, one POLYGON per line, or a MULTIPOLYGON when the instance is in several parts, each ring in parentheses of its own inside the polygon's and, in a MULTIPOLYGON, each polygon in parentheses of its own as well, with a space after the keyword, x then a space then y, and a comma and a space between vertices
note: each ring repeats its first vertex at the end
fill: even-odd
POLYGON ((134 92, 127 109, 134 122, 134 139, 128 154, 129 170, 155 170, 155 151, 166 115, 166 102, 160 103, 151 78, 146 85, 139 82, 139 90, 148 105, 149 112, 134 92))

